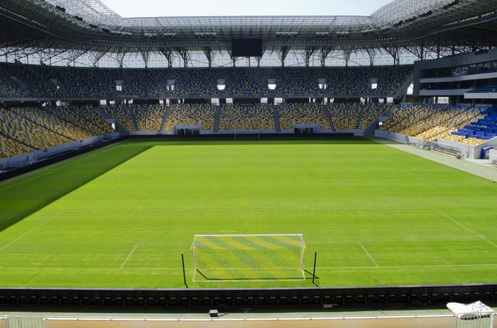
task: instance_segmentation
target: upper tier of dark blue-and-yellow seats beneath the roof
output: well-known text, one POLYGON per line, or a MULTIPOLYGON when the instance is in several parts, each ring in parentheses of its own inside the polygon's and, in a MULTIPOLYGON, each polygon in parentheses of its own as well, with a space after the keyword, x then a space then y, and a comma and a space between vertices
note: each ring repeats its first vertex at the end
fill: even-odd
POLYGON ((354 68, 216 68, 216 69, 97 69, 0 64, 0 98, 113 98, 168 96, 263 96, 267 94, 334 94, 393 96, 412 67, 354 68), (226 90, 217 90, 217 80, 226 90), (277 81, 269 91, 268 79, 277 81), (318 79, 327 80, 320 90, 318 79), (371 79, 378 81, 371 89, 371 79), (120 81, 122 90, 116 89, 120 81), (175 88, 168 89, 168 81, 175 88))

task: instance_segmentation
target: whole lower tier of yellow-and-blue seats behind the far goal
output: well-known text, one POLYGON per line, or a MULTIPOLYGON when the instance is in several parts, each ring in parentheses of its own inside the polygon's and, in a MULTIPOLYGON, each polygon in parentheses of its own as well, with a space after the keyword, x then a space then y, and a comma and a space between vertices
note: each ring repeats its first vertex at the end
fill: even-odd
MULTIPOLYGON (((364 129, 376 118, 387 113, 391 104, 333 103, 327 108, 337 129, 355 129, 359 124, 361 111, 364 111, 359 124, 359 128, 364 129)), ((128 130, 157 131, 165 119, 167 106, 120 105, 111 106, 106 111, 128 130), (133 120, 136 120, 136 124, 133 120)), ((207 103, 174 104, 163 130, 172 131, 175 125, 201 125, 202 130, 214 130, 215 111, 215 106, 207 103)), ((321 129, 331 128, 325 109, 318 103, 283 103, 278 106, 278 114, 283 130, 290 130, 295 124, 318 124, 321 129)), ((224 104, 220 106, 219 130, 275 130, 273 105, 224 104)))

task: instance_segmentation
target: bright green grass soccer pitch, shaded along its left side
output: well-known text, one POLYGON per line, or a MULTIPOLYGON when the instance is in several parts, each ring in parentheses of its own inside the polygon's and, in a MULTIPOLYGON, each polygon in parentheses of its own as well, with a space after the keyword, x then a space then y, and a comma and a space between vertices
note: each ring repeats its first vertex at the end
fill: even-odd
POLYGON ((194 234, 300 233, 320 286, 496 283, 496 200, 367 140, 131 140, 0 183, 0 285, 310 286, 192 282, 194 234))

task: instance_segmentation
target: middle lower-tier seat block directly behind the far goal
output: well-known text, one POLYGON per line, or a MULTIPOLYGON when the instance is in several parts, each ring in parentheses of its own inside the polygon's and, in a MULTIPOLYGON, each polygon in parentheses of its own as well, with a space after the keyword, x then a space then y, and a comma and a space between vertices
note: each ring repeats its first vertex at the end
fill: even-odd
POLYGON ((225 105, 221 111, 220 130, 274 130, 273 108, 267 103, 253 106, 225 105))

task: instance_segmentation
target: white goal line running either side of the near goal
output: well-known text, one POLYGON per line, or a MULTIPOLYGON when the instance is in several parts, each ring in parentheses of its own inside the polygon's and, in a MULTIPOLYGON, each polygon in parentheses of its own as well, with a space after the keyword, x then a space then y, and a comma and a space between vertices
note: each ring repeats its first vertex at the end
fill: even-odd
MULTIPOLYGON (((381 269, 403 269, 403 268, 471 268, 481 266, 497 266, 492 264, 441 264, 428 266, 316 266, 318 269, 327 270, 381 270, 381 269)), ((45 271, 119 271, 119 268, 36 268, 36 267, 19 267, 19 266, 0 266, 0 270, 45 270, 45 271)), ((124 271, 182 271, 182 268, 124 268, 124 271)))

